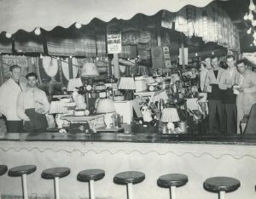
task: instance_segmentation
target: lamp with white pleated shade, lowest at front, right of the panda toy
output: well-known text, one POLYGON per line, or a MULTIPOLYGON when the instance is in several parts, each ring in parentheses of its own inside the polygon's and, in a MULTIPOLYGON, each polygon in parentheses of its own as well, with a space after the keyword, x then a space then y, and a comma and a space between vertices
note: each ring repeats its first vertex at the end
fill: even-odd
POLYGON ((178 122, 179 117, 176 108, 165 108, 162 111, 161 122, 165 122, 168 129, 168 134, 171 134, 172 130, 175 128, 173 122, 178 122))

